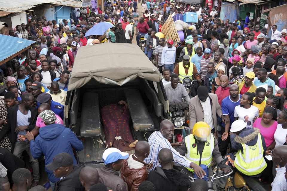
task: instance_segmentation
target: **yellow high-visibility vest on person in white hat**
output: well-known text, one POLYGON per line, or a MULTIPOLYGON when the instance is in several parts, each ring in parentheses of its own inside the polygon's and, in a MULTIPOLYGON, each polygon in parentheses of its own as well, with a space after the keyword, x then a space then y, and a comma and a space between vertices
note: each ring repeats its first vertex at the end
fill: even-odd
POLYGON ((242 143, 243 154, 241 150, 236 153, 234 166, 245 175, 252 176, 261 173, 267 166, 263 158, 263 146, 261 134, 257 135, 257 143, 254 146, 248 146, 242 143))

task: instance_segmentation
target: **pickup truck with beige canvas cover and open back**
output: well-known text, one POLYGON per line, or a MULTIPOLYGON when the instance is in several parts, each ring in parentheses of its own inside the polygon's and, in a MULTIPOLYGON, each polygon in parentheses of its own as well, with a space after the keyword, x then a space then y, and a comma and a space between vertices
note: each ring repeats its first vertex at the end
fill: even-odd
POLYGON ((83 142, 79 164, 103 165, 106 148, 101 108, 126 101, 134 140, 146 140, 167 118, 162 74, 136 44, 104 43, 80 47, 69 76, 65 126, 83 142), (124 50, 119 52, 119 50, 124 50))

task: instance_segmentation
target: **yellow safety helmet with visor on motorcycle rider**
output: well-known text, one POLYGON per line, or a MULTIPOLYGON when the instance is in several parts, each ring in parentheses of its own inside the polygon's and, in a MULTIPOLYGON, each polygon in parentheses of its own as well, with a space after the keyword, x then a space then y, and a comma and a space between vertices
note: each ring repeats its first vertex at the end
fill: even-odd
POLYGON ((207 123, 199 121, 193 126, 192 134, 199 141, 207 141, 211 138, 211 129, 207 123))

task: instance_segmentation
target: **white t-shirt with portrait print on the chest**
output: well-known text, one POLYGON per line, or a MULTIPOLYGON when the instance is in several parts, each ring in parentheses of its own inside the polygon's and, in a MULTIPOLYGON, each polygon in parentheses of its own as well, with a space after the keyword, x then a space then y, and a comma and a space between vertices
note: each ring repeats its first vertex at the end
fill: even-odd
POLYGON ((240 107, 240 105, 238 105, 234 109, 234 117, 238 117, 238 119, 241 119, 246 122, 246 128, 252 128, 254 117, 259 117, 259 110, 253 105, 251 105, 251 107, 248 109, 245 109, 244 107, 240 107))

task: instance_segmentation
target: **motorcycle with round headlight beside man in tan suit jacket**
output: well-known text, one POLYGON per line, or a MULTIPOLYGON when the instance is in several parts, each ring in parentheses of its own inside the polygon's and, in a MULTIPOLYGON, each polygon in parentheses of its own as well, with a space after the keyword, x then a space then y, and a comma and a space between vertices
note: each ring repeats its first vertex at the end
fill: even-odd
POLYGON ((187 108, 187 102, 170 102, 170 118, 175 130, 172 143, 181 142, 186 135, 190 134, 189 121, 184 118, 185 113, 187 115, 188 112, 187 108))

